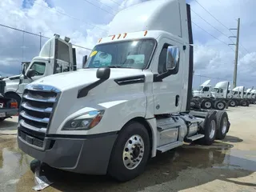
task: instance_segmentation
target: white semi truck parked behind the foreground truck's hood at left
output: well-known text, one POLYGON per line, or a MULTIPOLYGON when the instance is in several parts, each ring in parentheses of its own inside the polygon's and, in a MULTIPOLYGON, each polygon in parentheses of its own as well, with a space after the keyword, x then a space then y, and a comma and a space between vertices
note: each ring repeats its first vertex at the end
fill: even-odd
POLYGON ((76 70, 76 63, 72 60, 75 52, 72 52, 74 49, 72 49, 72 44, 69 42, 70 38, 62 40, 58 34, 54 34, 54 41, 52 39, 48 40, 38 57, 34 57, 31 62, 22 63, 22 74, 3 78, 3 81, 6 82, 6 97, 18 102, 18 106, 20 106, 25 86, 30 82, 50 74, 76 70), (54 50, 58 50, 56 52, 58 55, 54 55, 54 50), (57 58, 55 61, 54 57, 57 58), (30 74, 34 74, 33 77, 30 77, 30 74))

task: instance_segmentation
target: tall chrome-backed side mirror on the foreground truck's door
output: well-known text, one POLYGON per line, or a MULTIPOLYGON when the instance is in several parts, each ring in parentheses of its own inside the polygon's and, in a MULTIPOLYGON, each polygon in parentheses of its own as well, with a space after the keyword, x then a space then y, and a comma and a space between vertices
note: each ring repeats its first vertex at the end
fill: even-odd
POLYGON ((178 46, 168 46, 166 54, 166 70, 174 70, 179 62, 178 46))

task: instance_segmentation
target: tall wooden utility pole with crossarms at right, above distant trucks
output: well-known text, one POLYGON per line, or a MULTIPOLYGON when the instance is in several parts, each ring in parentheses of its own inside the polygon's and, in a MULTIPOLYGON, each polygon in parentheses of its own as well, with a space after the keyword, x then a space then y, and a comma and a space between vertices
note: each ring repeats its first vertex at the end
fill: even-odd
POLYGON ((234 58, 234 80, 233 80, 233 88, 237 86, 237 76, 238 76, 238 46, 239 46, 239 32, 240 32, 240 18, 238 18, 238 28, 230 29, 237 30, 237 36, 230 36, 230 38, 237 38, 236 44, 229 44, 235 46, 235 58, 234 58))

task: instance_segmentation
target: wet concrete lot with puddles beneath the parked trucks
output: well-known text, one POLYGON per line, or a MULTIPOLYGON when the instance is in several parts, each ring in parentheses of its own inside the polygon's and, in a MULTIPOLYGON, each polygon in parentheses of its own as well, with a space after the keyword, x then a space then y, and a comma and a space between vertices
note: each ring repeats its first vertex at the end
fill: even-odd
MULTIPOLYGON (((213 146, 181 146, 150 160, 126 183, 106 176, 45 169, 54 182, 43 191, 256 191, 256 106, 227 110, 231 127, 213 146)), ((30 158, 16 144, 17 117, 0 123, 0 191, 34 191, 30 158)))

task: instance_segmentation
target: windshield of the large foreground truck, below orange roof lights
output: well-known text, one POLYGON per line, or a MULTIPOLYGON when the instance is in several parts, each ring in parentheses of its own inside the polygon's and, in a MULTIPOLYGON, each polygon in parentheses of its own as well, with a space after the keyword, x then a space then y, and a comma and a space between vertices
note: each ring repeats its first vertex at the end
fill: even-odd
POLYGON ((103 66, 144 69, 154 50, 153 39, 112 42, 94 47, 85 68, 103 66))

